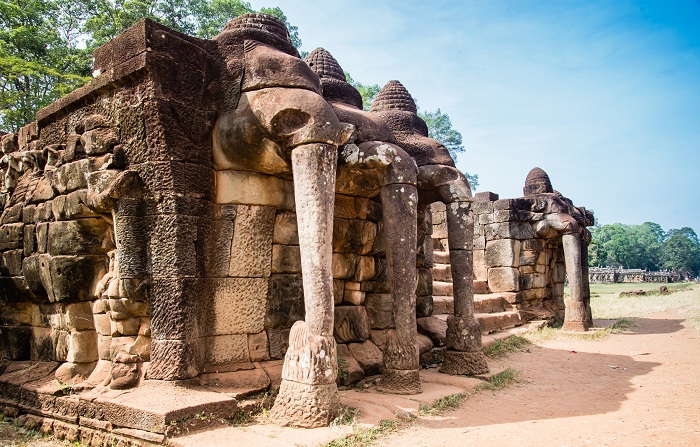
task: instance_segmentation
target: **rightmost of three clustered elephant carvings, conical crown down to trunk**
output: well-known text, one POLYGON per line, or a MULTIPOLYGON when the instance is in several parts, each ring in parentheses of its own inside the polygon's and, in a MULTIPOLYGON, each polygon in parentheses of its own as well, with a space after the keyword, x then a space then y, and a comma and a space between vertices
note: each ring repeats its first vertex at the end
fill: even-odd
MULTIPOLYGON (((447 237, 454 283, 454 315, 449 317, 447 322, 448 333, 453 336, 447 340, 445 362, 441 371, 449 374, 488 372, 486 357, 481 351, 481 329, 479 322, 474 318, 474 219, 469 182, 464 174, 454 167, 454 160, 447 148, 428 137, 427 126, 416 114, 417 108, 413 98, 400 82, 390 81, 385 85, 372 103, 371 111, 389 126, 397 143, 416 161, 419 207, 426 208, 438 201, 446 204, 447 237)), ((414 313, 410 318, 407 326, 415 323, 414 313)), ((393 340, 394 338, 389 339, 393 340)), ((391 346, 391 343, 388 345, 391 346)), ((417 353, 415 355, 417 356, 417 353)), ((386 361, 385 368, 407 369, 392 368, 386 361)), ((405 376, 406 374, 401 375, 401 383, 405 382, 405 376)))

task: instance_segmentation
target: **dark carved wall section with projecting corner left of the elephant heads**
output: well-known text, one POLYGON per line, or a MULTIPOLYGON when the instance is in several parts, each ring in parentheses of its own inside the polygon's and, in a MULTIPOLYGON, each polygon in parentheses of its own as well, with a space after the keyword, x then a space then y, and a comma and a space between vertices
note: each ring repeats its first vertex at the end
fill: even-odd
POLYGON ((17 154, 47 155, 46 166, 22 174, 2 217, 12 263, 0 279, 2 331, 5 346, 21 351, 10 358, 150 360, 149 374, 161 378, 201 364, 192 322, 202 312, 193 310, 206 306, 174 295, 202 276, 215 213, 213 113, 203 102, 211 64, 176 34, 139 22, 95 52, 93 81, 19 132, 17 154), (117 194, 110 187, 124 171, 136 181, 117 194))

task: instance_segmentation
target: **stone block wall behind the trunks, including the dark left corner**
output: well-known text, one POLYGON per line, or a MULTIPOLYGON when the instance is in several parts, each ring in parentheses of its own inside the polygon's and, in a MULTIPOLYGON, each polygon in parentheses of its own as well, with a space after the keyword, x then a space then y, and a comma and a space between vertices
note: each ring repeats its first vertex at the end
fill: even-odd
MULTIPOLYGON (((304 318, 294 188, 213 168, 216 48, 144 20, 94 58, 95 79, 2 137, 3 355, 114 388, 281 360, 304 318)), ((419 317, 432 229, 419 212, 419 317)), ((394 326, 378 199, 336 195, 333 276, 350 383, 394 326)))

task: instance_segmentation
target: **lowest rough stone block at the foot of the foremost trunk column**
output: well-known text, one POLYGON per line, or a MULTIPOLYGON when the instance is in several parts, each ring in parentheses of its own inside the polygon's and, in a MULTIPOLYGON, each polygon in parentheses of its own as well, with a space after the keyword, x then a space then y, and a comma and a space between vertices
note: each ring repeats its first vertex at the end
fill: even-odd
POLYGON ((270 411, 270 419, 283 426, 327 427, 340 414, 340 410, 335 383, 309 385, 283 380, 270 411))

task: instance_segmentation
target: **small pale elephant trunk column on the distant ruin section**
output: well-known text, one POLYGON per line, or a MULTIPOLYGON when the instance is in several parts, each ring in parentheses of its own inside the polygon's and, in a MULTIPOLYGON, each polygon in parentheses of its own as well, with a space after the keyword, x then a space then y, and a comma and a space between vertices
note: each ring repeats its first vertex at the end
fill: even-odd
POLYGON ((566 276, 569 280, 569 299, 566 302, 564 326, 569 331, 588 330, 587 310, 583 298, 583 275, 581 271, 581 238, 578 227, 575 231, 564 233, 561 237, 564 245, 564 262, 566 276))

